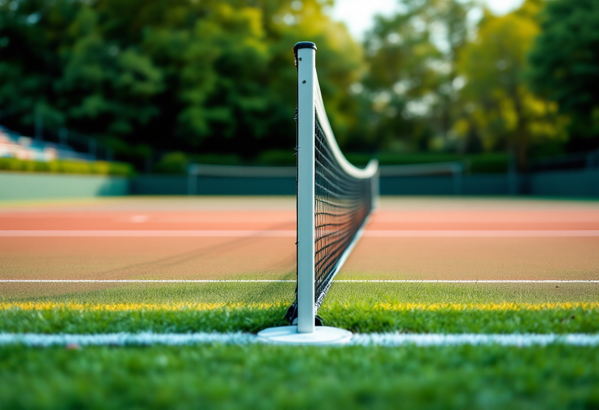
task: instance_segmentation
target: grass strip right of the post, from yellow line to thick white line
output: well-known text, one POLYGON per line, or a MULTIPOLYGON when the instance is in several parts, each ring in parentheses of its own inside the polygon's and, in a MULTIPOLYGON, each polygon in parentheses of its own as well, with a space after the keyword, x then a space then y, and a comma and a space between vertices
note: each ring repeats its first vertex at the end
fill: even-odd
POLYGON ((358 333, 595 333, 599 303, 326 305, 326 324, 358 333))

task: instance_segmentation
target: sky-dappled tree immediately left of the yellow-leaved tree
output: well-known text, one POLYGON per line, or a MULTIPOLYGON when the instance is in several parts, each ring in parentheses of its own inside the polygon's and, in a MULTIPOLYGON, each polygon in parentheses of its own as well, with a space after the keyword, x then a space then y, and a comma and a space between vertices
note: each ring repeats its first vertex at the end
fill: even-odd
MULTIPOLYGON (((440 53, 416 10, 377 16, 365 38, 368 71, 354 86, 364 98, 362 121, 370 125, 371 147, 427 149, 432 131, 426 117, 436 101, 440 53)), ((355 144, 357 145, 357 144, 355 144)))

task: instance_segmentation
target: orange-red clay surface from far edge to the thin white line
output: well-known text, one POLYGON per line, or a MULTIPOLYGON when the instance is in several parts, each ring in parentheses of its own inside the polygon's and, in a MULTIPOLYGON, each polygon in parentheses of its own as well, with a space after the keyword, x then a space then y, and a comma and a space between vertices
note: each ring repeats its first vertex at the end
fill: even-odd
MULTIPOLYGON (((0 279, 295 279, 294 231, 294 197, 4 204, 0 279)), ((597 280, 598 249, 597 202, 383 197, 337 279, 597 280)))

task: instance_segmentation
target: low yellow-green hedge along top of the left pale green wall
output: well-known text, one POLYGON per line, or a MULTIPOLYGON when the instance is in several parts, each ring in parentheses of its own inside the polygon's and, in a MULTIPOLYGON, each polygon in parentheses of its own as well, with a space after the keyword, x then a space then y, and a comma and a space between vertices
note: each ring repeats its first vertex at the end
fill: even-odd
POLYGON ((0 170, 48 172, 63 174, 98 174, 131 176, 134 173, 131 164, 106 161, 29 161, 17 158, 0 158, 0 170))

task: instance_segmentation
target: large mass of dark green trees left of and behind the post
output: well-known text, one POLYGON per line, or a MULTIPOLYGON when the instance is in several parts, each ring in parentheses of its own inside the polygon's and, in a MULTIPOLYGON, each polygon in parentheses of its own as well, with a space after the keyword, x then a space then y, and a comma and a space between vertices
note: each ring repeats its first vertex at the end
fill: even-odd
POLYGON ((322 2, 2 2, 2 120, 31 126, 37 111, 47 126, 129 146, 243 156, 292 149, 291 49, 305 38, 323 50, 320 85, 343 139, 356 122, 344 92, 361 55, 322 2))

